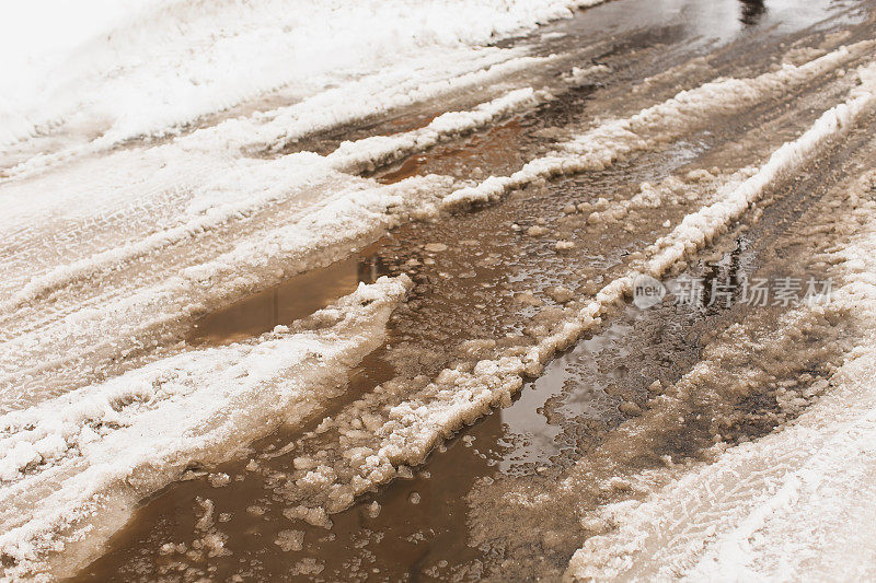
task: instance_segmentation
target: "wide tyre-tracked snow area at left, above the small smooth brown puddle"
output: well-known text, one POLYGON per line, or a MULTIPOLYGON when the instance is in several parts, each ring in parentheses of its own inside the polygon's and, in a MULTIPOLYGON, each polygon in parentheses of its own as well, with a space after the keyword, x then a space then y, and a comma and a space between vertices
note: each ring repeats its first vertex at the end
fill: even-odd
MULTIPOLYGON (((350 173, 544 98, 530 88, 514 90, 423 128, 344 142, 326 155, 238 158, 192 151, 181 140, 0 185, 0 230, 9 249, 0 268, 0 288, 8 291, 0 301, 7 324, 0 410, 13 406, 10 395, 18 403, 45 396, 34 373, 70 369, 83 358, 99 369, 95 348, 148 345, 154 330, 205 306, 325 265, 383 229, 434 213, 452 179, 426 176, 384 186, 350 173), (33 202, 21 205, 22 198, 33 202), (114 272, 125 269, 134 272, 122 281, 114 272), (108 281, 108 292, 88 285, 90 278, 108 281), (31 310, 42 301, 53 302, 54 317, 31 310)), ((87 369, 81 361, 78 368, 74 384, 87 369)), ((51 383, 60 386, 57 377, 51 383)))

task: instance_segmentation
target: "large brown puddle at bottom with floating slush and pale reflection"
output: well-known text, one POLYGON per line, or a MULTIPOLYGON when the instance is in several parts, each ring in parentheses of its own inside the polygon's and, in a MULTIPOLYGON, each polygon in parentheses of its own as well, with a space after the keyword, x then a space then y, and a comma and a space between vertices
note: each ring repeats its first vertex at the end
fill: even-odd
MULTIPOLYGON (((257 469, 244 468, 243 460, 216 468, 217 474, 230 476, 227 486, 210 488, 200 478, 174 483, 157 494, 114 538, 117 550, 95 561, 77 580, 124 576, 132 581, 146 573, 143 579, 159 575, 180 581, 201 576, 295 581, 301 565, 314 569, 308 576, 312 581, 479 580, 502 560, 502 551, 470 546, 469 492, 502 477, 545 470, 558 475, 574 463, 597 441, 573 430, 583 418, 602 430, 623 420, 618 411, 620 398, 608 395, 607 387, 623 382, 630 390, 642 392, 650 382, 645 376, 637 382, 636 375, 654 365, 642 358, 643 350, 673 362, 675 369, 664 375, 666 382, 673 382, 684 366, 695 362, 693 345, 681 341, 660 347, 643 333, 641 324, 648 315, 629 308, 621 322, 584 339, 554 360, 543 376, 527 383, 511 407, 463 428, 414 468, 408 479, 396 479, 331 515, 331 529, 284 517, 277 487, 296 453, 278 450, 276 445, 285 440, 275 436, 265 440, 267 445, 255 444, 254 450, 263 452, 256 457, 257 469), (208 532, 197 527, 204 499, 215 508, 216 524, 208 532), (300 550, 284 551, 274 543, 290 529, 303 532, 300 550), (217 534, 229 555, 209 556, 205 550, 201 537, 217 534), (185 545, 185 550, 155 552, 169 544, 185 545)), ((357 393, 365 393, 391 374, 385 362, 372 354, 354 372, 353 385, 357 393)))

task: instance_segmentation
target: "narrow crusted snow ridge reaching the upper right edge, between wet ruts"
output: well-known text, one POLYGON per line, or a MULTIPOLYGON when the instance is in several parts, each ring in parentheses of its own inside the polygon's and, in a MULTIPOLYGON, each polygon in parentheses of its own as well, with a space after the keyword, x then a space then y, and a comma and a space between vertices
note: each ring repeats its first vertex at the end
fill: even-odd
POLYGON ((707 126, 715 116, 730 115, 789 89, 811 81, 844 62, 871 51, 873 40, 841 47, 799 67, 784 65, 776 71, 751 79, 719 79, 643 109, 636 115, 608 121, 564 144, 556 152, 528 162, 510 176, 491 176, 477 186, 451 193, 442 200, 456 209, 496 199, 533 182, 603 170, 619 158, 673 140, 707 126))

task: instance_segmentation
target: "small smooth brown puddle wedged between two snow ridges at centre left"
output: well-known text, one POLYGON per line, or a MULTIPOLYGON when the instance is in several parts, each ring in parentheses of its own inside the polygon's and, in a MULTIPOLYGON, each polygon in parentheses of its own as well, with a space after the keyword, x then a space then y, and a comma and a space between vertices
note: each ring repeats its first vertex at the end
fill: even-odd
MULTIPOLYGON (((372 247, 370 247, 372 248, 372 247)), ((246 340, 309 316, 338 298, 356 291, 359 282, 373 283, 387 275, 382 259, 372 250, 321 269, 293 276, 269 290, 250 295, 207 314, 193 327, 193 345, 223 345, 246 340)))

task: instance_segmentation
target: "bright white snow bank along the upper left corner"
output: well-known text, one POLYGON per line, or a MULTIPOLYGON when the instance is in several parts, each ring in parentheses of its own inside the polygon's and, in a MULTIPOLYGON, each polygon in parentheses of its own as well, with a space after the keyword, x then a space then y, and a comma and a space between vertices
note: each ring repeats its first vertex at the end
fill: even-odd
MULTIPOLYGON (((0 24, 0 148, 62 127, 105 144, 471 47, 600 0, 42 0, 0 24)), ((476 53, 476 51, 475 51, 476 53)))

